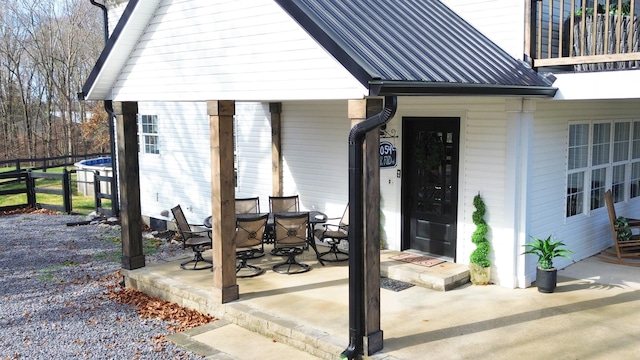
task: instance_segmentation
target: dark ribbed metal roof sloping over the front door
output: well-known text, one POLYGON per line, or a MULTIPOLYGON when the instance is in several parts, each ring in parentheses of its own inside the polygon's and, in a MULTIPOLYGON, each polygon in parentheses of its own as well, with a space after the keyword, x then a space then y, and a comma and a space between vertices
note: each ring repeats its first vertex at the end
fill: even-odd
POLYGON ((275 0, 371 95, 553 96, 438 0, 275 0))

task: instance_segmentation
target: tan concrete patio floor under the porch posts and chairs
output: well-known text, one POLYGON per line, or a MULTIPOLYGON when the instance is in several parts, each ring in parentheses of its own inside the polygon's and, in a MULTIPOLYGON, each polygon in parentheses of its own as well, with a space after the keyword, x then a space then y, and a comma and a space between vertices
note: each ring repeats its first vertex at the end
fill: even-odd
MULTIPOLYGON (((392 254, 383 253, 383 272, 406 269, 388 259, 392 254)), ((322 267, 305 253, 310 272, 281 275, 270 270, 280 258, 265 256, 255 262, 266 273, 238 279, 240 299, 216 305, 212 273, 179 268, 189 256, 123 271, 128 287, 221 319, 171 341, 209 359, 339 359, 347 347, 346 262, 322 267)), ((468 283, 446 292, 413 286, 381 289, 381 310, 384 348, 371 359, 640 358, 640 268, 596 257, 560 270, 553 294, 468 283)))

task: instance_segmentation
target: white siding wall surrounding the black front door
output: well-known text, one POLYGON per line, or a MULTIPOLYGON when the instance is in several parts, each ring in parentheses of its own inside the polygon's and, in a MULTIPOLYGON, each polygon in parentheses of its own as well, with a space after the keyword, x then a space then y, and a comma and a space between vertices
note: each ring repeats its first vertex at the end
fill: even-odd
MULTIPOLYGON (((419 98, 403 97, 399 99, 399 107, 393 121, 387 128, 401 128, 402 117, 459 117, 460 127, 460 165, 458 180, 458 234, 457 234, 457 262, 468 263, 469 255, 474 245, 471 234, 475 226, 471 215, 475 210, 473 197, 480 193, 487 205, 485 219, 489 223, 491 232, 489 240, 492 243, 490 259, 495 264, 493 280, 500 282, 500 276, 505 279, 512 277, 511 273, 501 275, 495 269, 507 266, 502 260, 511 261, 513 258, 513 236, 509 228, 505 228, 504 208, 507 199, 505 193, 506 168, 506 126, 505 99, 503 98, 419 98), (508 254, 507 254, 508 253, 508 254), (507 257, 505 257, 507 256, 507 257)), ((397 141, 399 149, 399 164, 402 164, 401 144, 402 134, 397 141)), ((401 168, 401 166, 399 166, 401 168)), ((400 184, 395 185, 395 196, 387 190, 387 182, 395 177, 397 170, 381 171, 381 188, 385 208, 390 207, 394 212, 385 214, 387 235, 391 248, 400 249, 400 184), (394 206, 395 205, 395 206, 394 206), (395 232, 389 224, 395 220, 395 232)), ((504 280, 506 282, 506 280, 504 280)))

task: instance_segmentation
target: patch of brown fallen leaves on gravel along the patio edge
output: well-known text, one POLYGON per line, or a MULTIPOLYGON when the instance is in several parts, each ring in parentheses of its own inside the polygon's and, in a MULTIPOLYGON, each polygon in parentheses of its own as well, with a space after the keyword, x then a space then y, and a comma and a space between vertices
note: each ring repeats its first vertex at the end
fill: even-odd
POLYGON ((171 331, 185 331, 216 320, 211 315, 183 308, 176 303, 151 297, 138 290, 122 287, 118 283, 121 278, 122 276, 118 271, 107 279, 106 287, 109 299, 121 304, 135 306, 136 312, 142 318, 156 318, 170 322, 168 328, 171 331))

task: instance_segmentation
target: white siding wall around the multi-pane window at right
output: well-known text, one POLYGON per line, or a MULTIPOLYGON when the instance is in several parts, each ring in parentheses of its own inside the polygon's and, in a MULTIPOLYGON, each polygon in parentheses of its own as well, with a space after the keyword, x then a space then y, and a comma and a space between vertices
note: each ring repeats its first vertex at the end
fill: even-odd
MULTIPOLYGON (((588 214, 566 217, 566 174, 569 123, 592 120, 640 120, 637 101, 540 101, 535 113, 534 146, 529 192, 531 236, 563 241, 573 251, 571 260, 556 258, 562 269, 597 254, 613 244, 605 206, 588 214)), ((616 203, 618 215, 640 213, 640 199, 616 203)), ((527 263, 534 277, 535 262, 527 263)))

